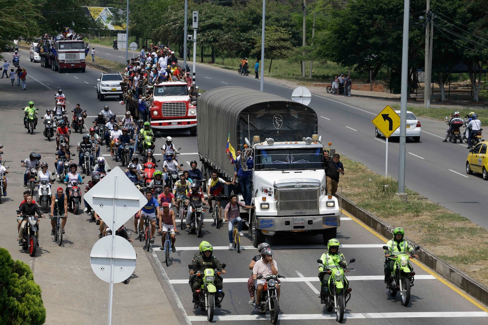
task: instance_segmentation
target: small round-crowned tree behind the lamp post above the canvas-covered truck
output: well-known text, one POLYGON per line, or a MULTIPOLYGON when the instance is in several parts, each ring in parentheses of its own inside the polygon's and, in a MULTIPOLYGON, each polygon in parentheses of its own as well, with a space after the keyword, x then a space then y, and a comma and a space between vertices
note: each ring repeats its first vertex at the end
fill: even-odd
MULTIPOLYGON (((271 58, 268 73, 271 72, 271 65, 275 57, 287 57, 292 51, 289 39, 291 34, 283 27, 269 26, 264 30, 264 57, 271 58)), ((256 46, 251 51, 251 55, 261 57, 261 36, 254 38, 256 46)))

